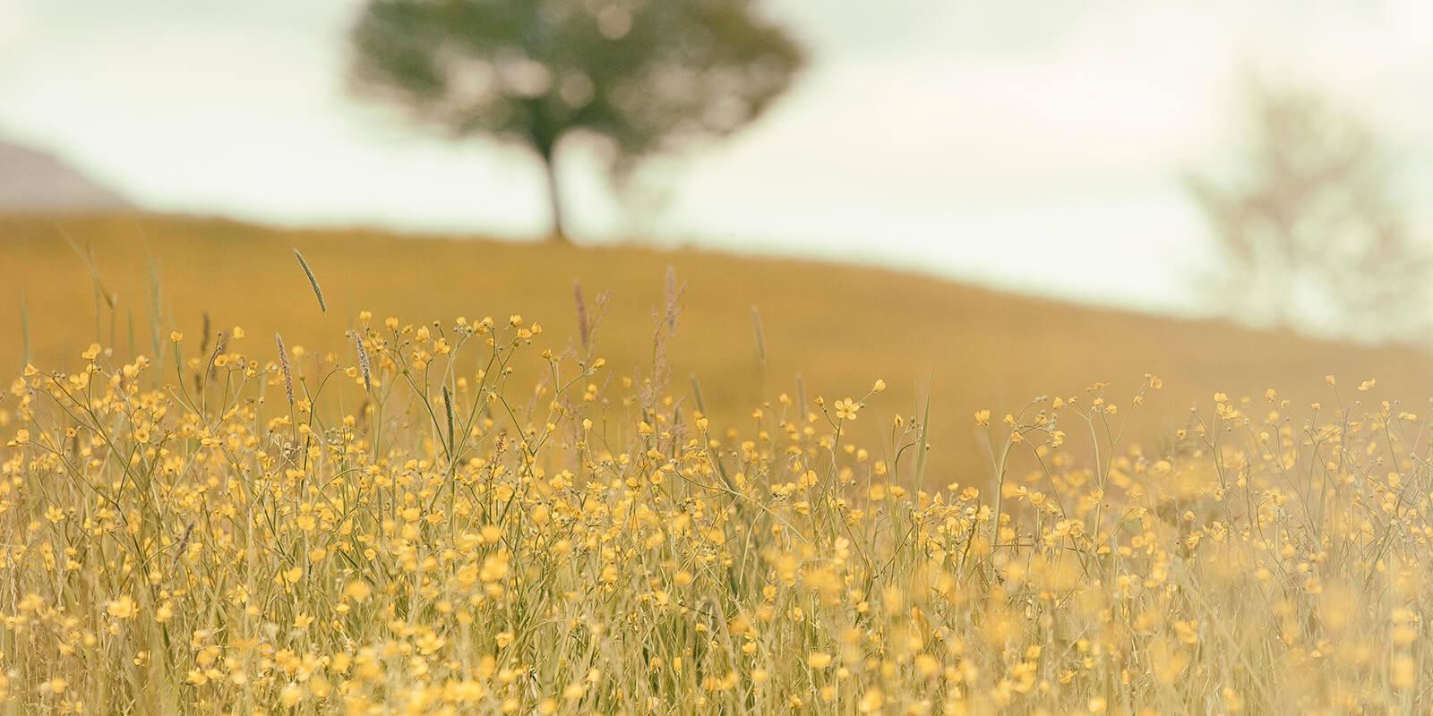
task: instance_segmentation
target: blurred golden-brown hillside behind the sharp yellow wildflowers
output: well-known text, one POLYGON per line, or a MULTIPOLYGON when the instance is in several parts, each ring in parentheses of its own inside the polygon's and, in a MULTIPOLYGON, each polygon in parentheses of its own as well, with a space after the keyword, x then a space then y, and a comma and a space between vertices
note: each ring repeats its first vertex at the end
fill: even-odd
MULTIPOLYGON (((1215 390, 1241 395, 1275 387, 1300 401, 1333 402, 1324 374, 1343 378, 1346 401, 1369 397, 1353 390, 1369 377, 1379 378, 1373 397, 1427 395, 1433 388, 1424 357, 1409 349, 1078 308, 860 266, 159 216, 0 218, 0 266, 7 269, 0 367, 7 374, 20 362, 17 295, 29 305, 33 362, 75 368, 95 339, 89 274, 59 228, 93 246, 102 281, 119 295, 115 342, 128 348, 133 315, 140 352, 153 352, 146 328, 148 253, 160 265, 166 321, 195 338, 203 312, 215 329, 242 325, 249 338, 241 348, 261 358, 272 354, 274 331, 311 351, 341 348, 342 331, 360 309, 444 324, 457 315, 517 312, 540 321, 547 342, 562 348, 573 335, 572 282, 579 279, 589 301, 610 289, 598 352, 618 371, 632 372, 651 362, 652 312, 672 265, 686 284, 682 329, 671 351, 675 395, 689 394, 686 375, 696 374, 711 411, 735 418, 762 397, 795 395, 797 372, 811 395, 831 400, 858 397, 884 378, 890 392, 861 414, 870 430, 888 425, 896 411, 910 414, 934 371, 931 465, 943 468, 937 477, 943 483, 980 481, 987 473, 970 418, 974 410, 992 408, 999 417, 1037 394, 1076 395, 1093 381, 1112 382, 1111 395, 1123 410, 1145 372, 1165 379, 1165 390, 1132 422, 1129 435, 1136 440, 1168 434, 1189 407, 1208 407, 1215 390), (317 311, 289 252, 295 246, 322 282, 327 316, 317 311), (751 306, 759 308, 765 329, 764 374, 751 306)), ((103 331, 107 344, 109 326, 103 331)))

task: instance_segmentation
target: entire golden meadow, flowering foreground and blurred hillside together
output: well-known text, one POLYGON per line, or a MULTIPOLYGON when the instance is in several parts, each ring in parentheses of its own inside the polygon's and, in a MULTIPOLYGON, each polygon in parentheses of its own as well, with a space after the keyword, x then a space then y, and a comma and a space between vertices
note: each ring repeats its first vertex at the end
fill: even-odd
POLYGON ((698 252, 0 236, 0 713, 1429 710, 1412 349, 698 252))

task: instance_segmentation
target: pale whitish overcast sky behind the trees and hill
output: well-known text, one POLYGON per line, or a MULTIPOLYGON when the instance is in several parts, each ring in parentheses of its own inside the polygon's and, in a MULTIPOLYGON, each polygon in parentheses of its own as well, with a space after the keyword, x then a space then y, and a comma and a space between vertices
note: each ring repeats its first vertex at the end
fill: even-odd
MULTIPOLYGON (((361 0, 0 0, 0 137, 136 203, 535 239, 539 166, 344 90, 361 0)), ((1201 314, 1185 172, 1238 158, 1251 70, 1356 107, 1433 190, 1433 3, 768 0, 811 66, 737 137, 663 160, 636 222, 593 158, 572 233, 866 261, 1201 314)), ((1427 205, 1429 202, 1422 202, 1427 205)))

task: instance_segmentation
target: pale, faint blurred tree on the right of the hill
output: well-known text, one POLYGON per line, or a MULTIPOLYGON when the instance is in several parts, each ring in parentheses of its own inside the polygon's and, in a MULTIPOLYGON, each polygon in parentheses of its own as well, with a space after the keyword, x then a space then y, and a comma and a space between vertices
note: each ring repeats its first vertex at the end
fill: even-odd
POLYGON ((1215 301, 1260 324, 1422 337, 1433 253, 1407 226, 1373 130, 1307 90, 1250 87, 1242 180, 1187 180, 1222 259, 1215 301))

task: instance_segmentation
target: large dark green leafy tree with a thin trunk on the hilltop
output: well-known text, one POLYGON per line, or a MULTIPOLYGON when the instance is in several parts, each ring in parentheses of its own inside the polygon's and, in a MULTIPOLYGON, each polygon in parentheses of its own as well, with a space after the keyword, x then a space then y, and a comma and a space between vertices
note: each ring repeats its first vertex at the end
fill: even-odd
POLYGON ((350 83, 454 139, 496 136, 542 160, 553 232, 563 140, 602 137, 613 173, 724 137, 762 115, 802 52, 751 0, 370 0, 350 83))

